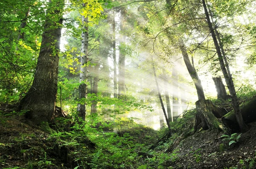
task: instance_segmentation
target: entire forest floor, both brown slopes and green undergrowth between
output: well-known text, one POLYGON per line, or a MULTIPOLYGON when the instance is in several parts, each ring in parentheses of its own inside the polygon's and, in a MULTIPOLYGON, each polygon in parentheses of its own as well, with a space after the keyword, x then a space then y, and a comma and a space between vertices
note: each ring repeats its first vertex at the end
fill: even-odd
POLYGON ((256 166, 256 122, 250 123, 248 132, 233 134, 233 138, 227 136, 231 134, 206 130, 187 137, 173 135, 149 149, 160 133, 146 127, 137 126, 136 130, 125 130, 119 135, 104 132, 105 145, 103 142, 100 145, 99 140, 81 135, 74 138, 77 133, 48 134, 11 108, 1 107, 0 131, 1 169, 254 169, 256 166))

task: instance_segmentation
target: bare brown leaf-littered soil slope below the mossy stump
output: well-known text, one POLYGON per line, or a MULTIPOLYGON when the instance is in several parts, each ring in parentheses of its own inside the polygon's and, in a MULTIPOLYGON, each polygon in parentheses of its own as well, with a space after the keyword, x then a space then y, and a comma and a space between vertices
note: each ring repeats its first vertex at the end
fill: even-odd
POLYGON ((256 122, 249 125, 250 130, 236 134, 241 134, 240 138, 231 145, 230 140, 221 137, 226 133, 215 130, 179 139, 177 146, 172 147, 178 150, 179 158, 167 166, 174 169, 256 169, 256 122))

